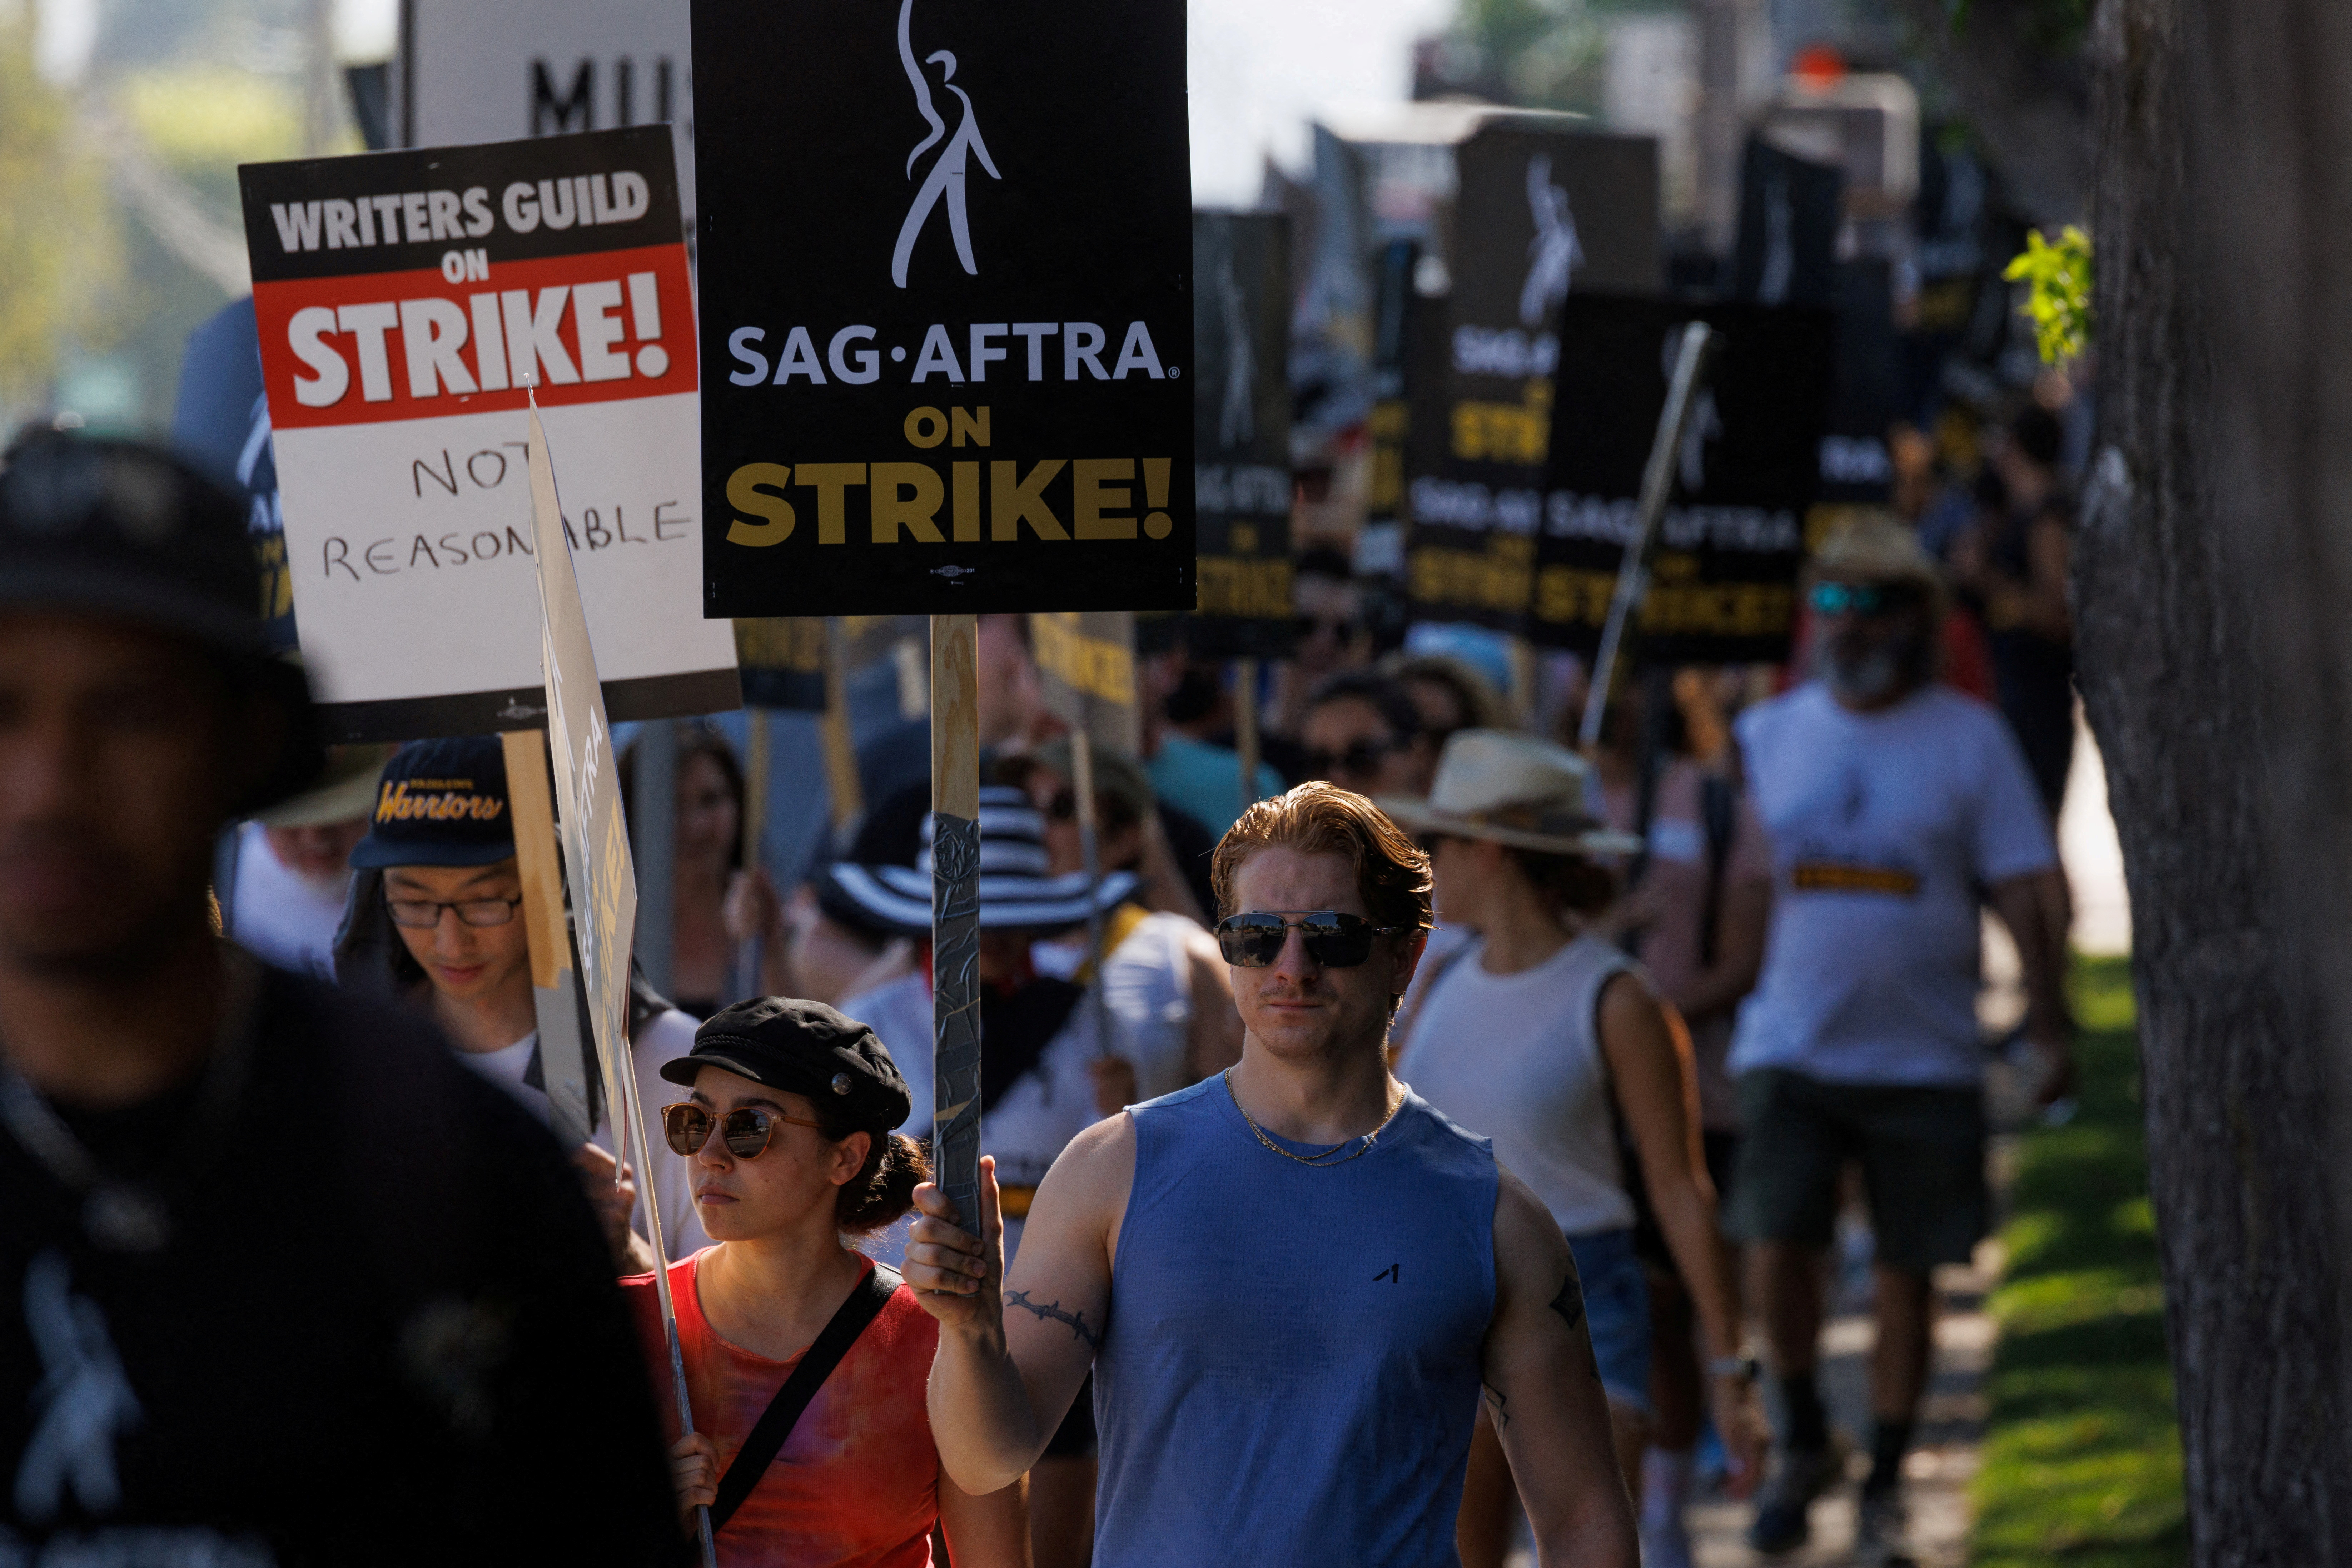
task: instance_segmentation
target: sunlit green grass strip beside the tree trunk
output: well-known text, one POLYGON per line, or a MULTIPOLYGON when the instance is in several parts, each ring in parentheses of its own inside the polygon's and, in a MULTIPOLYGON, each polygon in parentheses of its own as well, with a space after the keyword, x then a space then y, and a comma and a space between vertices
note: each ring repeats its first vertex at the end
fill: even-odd
POLYGON ((2082 959, 2082 1107, 2020 1138, 1976 1568, 2180 1568, 2180 1429, 2126 959, 2082 959))

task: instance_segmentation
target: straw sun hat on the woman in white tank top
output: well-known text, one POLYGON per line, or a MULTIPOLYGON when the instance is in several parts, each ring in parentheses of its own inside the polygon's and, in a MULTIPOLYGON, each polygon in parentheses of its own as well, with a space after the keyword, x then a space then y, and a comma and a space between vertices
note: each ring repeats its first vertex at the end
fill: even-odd
POLYGON ((1437 757, 1428 797, 1383 795, 1416 832, 1494 839, 1552 856, 1630 856, 1642 839, 1595 811, 1592 766, 1564 745, 1501 729, 1465 729, 1437 757))

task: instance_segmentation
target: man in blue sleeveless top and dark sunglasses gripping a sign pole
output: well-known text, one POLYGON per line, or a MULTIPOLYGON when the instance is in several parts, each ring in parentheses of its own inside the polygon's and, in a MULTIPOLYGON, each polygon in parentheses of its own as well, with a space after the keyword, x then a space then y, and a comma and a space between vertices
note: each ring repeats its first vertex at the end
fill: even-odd
POLYGON ((1310 783, 1251 806, 1214 879, 1242 1063, 1080 1133, 1011 1279, 988 1161, 978 1237, 915 1192, 948 1476, 1018 1479, 1091 1368, 1103 1568, 1439 1568, 1484 1399, 1538 1563, 1632 1568, 1569 1248, 1484 1138, 1388 1072, 1428 856, 1310 783))

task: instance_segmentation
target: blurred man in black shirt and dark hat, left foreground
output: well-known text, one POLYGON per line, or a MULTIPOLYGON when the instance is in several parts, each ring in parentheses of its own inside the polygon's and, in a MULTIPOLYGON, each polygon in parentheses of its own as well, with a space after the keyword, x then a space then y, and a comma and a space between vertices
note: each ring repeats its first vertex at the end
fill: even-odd
POLYGON ((216 933, 221 827, 320 766, 259 607, 179 458, 0 458, 0 1561, 670 1561, 557 1150, 216 933))

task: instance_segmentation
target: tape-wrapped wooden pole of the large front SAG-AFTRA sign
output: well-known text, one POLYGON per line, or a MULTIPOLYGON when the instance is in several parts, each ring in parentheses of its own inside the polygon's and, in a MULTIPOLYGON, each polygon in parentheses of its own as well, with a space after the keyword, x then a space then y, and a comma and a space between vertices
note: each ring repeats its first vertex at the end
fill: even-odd
POLYGON ((981 1225, 981 708, 976 621, 931 616, 931 1180, 981 1225))

